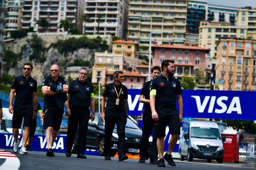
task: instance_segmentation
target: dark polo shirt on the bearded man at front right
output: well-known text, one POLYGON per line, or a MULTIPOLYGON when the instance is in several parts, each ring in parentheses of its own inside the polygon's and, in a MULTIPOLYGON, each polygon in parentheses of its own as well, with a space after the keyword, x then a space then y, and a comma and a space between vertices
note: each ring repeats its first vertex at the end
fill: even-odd
POLYGON ((181 83, 174 77, 166 77, 162 74, 156 77, 150 84, 150 91, 155 89, 155 110, 159 117, 177 114, 176 95, 182 95, 181 83))

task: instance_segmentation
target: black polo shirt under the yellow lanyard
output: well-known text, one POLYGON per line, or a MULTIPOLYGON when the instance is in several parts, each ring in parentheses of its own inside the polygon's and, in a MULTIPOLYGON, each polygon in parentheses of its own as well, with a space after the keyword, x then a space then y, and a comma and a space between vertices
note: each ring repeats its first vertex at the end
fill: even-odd
POLYGON ((126 112, 124 109, 124 100, 128 99, 128 90, 125 85, 122 85, 122 90, 119 95, 119 92, 121 90, 121 85, 118 87, 115 82, 107 84, 104 88, 103 96, 107 97, 107 108, 105 111, 105 115, 107 116, 125 116, 126 112), (114 88, 116 87, 116 90, 114 88), (117 100, 117 94, 119 95, 119 105, 116 105, 117 100))

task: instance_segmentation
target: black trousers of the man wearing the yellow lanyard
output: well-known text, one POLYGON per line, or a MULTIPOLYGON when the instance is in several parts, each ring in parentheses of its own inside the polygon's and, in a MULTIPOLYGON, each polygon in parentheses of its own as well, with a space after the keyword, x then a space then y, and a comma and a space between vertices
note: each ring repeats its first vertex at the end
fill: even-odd
POLYGON ((125 146, 125 116, 106 116, 105 115, 105 151, 106 155, 111 155, 111 138, 112 133, 117 124, 117 135, 118 135, 118 156, 123 156, 126 154, 125 146))

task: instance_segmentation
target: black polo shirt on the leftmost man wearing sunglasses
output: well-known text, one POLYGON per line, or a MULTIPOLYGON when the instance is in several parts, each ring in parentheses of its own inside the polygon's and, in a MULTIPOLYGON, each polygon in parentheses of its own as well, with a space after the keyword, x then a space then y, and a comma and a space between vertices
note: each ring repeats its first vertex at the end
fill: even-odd
POLYGON ((26 79, 24 75, 14 78, 11 89, 16 90, 14 108, 33 108, 32 95, 37 92, 37 80, 31 76, 26 79))

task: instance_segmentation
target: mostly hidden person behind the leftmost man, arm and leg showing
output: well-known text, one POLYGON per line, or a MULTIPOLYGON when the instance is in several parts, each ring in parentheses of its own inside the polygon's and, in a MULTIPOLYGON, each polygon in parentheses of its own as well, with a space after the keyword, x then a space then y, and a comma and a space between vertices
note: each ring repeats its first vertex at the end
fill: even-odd
MULTIPOLYGON (((42 113, 42 109, 41 109, 41 106, 40 104, 37 102, 37 111, 39 113, 39 116, 40 116, 40 120, 41 122, 43 121, 43 113, 42 113)), ((27 150, 32 150, 30 148, 30 145, 32 143, 32 140, 33 140, 33 137, 35 135, 35 132, 36 132, 36 128, 37 128, 37 118, 36 119, 33 119, 32 121, 32 125, 30 126, 30 131, 29 131, 29 137, 28 137, 28 140, 27 140, 27 144, 25 145, 25 148, 27 150)))

